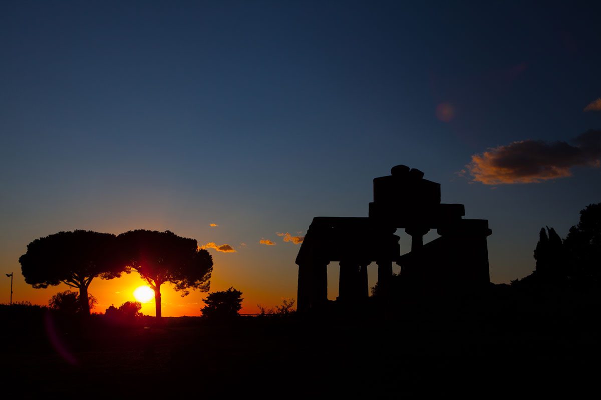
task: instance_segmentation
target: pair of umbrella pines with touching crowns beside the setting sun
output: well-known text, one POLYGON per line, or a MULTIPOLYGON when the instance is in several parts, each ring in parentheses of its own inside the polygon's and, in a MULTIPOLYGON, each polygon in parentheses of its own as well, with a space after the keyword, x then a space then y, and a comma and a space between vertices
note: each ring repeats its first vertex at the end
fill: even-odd
POLYGON ((138 272, 154 290, 161 317, 160 287, 174 285, 182 297, 190 290, 209 291, 213 258, 197 240, 171 231, 133 230, 114 235, 61 231, 27 245, 19 258, 25 282, 34 288, 64 283, 79 291, 79 310, 90 315, 88 288, 94 278, 114 279, 138 272))

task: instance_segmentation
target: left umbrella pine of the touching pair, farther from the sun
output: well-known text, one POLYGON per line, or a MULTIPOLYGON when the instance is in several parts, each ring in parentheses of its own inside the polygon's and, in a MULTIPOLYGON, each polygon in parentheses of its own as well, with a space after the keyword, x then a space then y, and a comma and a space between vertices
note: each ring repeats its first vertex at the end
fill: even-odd
POLYGON ((19 258, 25 282, 46 288, 61 282, 79 290, 79 308, 90 315, 88 287, 96 276, 120 276, 113 255, 115 236, 109 233, 76 230, 40 237, 27 245, 19 258))

